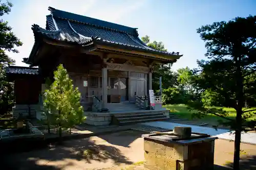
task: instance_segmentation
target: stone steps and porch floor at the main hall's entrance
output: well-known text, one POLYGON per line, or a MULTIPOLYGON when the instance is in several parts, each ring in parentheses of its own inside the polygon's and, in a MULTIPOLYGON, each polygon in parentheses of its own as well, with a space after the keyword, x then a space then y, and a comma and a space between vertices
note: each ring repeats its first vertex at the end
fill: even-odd
POLYGON ((112 113, 116 112, 112 116, 114 125, 130 125, 169 118, 168 110, 144 110, 129 102, 111 103, 108 108, 112 113))

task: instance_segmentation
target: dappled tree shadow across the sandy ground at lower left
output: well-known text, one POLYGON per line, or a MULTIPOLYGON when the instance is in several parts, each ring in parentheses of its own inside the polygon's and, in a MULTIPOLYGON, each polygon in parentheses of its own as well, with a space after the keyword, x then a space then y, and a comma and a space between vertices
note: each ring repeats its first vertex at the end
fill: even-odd
POLYGON ((123 156, 119 149, 105 144, 96 144, 89 138, 69 140, 61 145, 49 145, 34 151, 12 153, 0 156, 1 170, 32 170, 47 169, 59 170, 74 165, 79 161, 80 166, 92 161, 106 162, 111 160, 114 164, 132 164, 123 156))

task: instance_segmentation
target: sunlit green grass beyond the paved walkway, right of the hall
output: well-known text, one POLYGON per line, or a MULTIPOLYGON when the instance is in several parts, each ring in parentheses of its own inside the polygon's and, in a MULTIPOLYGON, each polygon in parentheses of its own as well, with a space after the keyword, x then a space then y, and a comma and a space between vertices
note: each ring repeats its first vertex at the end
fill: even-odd
MULTIPOLYGON (((180 118, 186 118, 189 120, 197 120, 198 122, 204 122, 204 123, 209 123, 209 124, 217 124, 219 119, 224 120, 223 118, 216 116, 216 115, 207 115, 201 119, 198 118, 193 118, 192 117, 192 113, 191 111, 189 111, 187 109, 186 105, 165 105, 164 106, 166 109, 170 110, 171 113, 177 114, 179 115, 180 118)), ((253 109, 253 108, 252 108, 253 109)), ((228 117, 229 118, 235 118, 236 117, 236 110, 234 110, 233 108, 223 108, 223 110, 227 111, 229 113, 228 117)), ((250 118, 250 119, 254 119, 256 118, 256 116, 250 118)))

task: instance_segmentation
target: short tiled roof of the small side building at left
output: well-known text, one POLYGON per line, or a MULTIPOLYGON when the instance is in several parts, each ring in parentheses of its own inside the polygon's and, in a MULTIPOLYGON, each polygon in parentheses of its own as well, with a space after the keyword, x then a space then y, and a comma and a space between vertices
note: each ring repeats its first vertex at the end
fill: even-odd
POLYGON ((38 68, 9 66, 6 68, 8 74, 39 75, 38 68))

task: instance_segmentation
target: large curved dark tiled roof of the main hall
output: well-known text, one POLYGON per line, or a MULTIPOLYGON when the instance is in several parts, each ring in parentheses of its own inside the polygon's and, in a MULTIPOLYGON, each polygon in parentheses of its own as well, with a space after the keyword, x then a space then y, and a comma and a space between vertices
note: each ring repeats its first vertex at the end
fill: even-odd
POLYGON ((70 43, 87 44, 101 42, 106 44, 130 47, 134 50, 149 51, 164 55, 179 55, 154 50, 144 44, 138 37, 137 29, 121 26, 82 15, 77 15, 49 7, 51 15, 47 15, 47 27, 42 29, 33 25, 34 34, 70 43))

